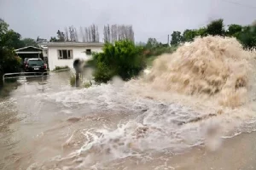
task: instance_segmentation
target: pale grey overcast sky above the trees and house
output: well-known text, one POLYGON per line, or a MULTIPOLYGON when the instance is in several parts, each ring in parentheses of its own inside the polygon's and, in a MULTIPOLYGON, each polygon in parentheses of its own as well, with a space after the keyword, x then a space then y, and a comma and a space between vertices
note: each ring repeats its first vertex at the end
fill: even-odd
MULTIPOLYGON (((66 26, 129 24, 136 42, 155 37, 166 42, 172 31, 256 20, 255 0, 0 0, 0 18, 22 37, 54 37, 66 26), (228 3, 234 2, 234 3, 228 3), (241 3, 241 4, 235 4, 241 3)), ((102 35, 101 35, 102 41, 102 35)))

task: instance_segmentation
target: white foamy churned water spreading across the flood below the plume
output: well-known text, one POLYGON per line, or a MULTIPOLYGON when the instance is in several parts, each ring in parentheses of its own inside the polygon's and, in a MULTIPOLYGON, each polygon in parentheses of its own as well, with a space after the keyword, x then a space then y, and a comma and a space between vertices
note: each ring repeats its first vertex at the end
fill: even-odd
MULTIPOLYGON (((67 168, 79 169, 95 165, 101 167, 104 163, 129 157, 148 160, 152 153, 181 153, 196 145, 206 144, 207 149, 217 150, 221 146, 222 136, 227 138, 243 132, 241 127, 244 121, 251 117, 249 114, 241 116, 242 109, 223 109, 222 114, 212 112, 214 110, 195 111, 191 105, 145 98, 134 93, 133 88, 127 82, 118 88, 113 84, 104 84, 44 94, 44 99, 64 105, 69 108, 68 111, 72 111, 73 107, 90 107, 92 112, 125 112, 133 115, 128 122, 116 122, 116 128, 84 129, 79 133, 85 137, 79 150, 53 161, 59 161, 67 168), (211 129, 217 133, 209 135, 211 129), (77 163, 67 165, 65 162, 77 163)), ((249 129, 253 130, 254 126, 249 129)), ((77 139, 72 136, 68 142, 77 139)))

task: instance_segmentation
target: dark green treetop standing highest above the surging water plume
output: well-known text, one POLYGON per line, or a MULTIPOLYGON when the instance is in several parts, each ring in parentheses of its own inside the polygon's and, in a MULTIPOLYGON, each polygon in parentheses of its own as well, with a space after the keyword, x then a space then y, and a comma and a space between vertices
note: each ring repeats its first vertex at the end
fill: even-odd
POLYGON ((222 19, 213 20, 207 25, 207 33, 212 36, 224 36, 224 23, 222 19))

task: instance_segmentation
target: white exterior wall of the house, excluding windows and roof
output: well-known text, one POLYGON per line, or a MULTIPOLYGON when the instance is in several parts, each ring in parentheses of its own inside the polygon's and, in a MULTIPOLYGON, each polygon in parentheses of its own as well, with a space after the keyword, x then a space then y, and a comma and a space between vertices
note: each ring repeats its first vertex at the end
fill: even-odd
POLYGON ((91 52, 102 52, 102 47, 48 47, 48 66, 49 70, 53 71, 55 66, 69 66, 73 68, 74 59, 90 59, 91 55, 85 54, 85 50, 90 49, 91 52), (58 50, 72 49, 73 59, 58 59, 58 50))

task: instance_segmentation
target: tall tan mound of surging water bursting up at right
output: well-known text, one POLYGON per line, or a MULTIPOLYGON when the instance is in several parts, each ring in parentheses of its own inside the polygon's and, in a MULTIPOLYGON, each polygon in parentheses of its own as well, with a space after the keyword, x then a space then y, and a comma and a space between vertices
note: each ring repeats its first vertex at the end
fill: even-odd
POLYGON ((148 80, 154 88, 204 95, 236 107, 247 100, 251 58, 236 38, 197 37, 156 59, 148 80))

